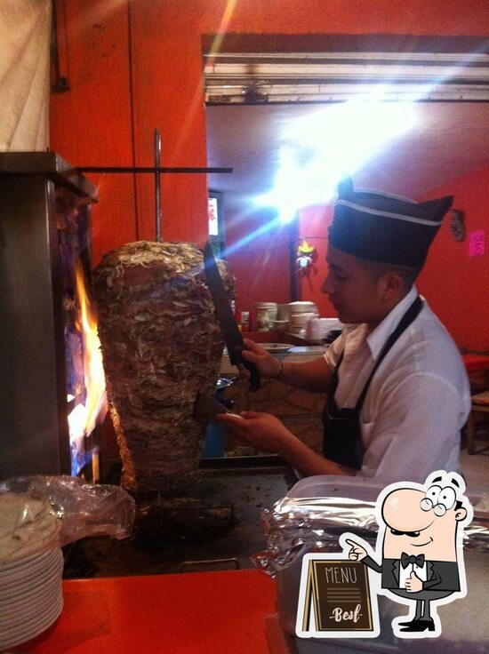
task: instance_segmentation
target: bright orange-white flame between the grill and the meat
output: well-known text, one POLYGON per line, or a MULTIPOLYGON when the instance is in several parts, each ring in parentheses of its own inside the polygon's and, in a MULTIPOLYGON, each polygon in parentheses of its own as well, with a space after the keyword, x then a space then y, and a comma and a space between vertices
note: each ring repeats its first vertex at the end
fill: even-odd
POLYGON ((78 403, 68 416, 69 433, 72 443, 91 434, 95 425, 107 413, 105 374, 97 333, 97 318, 92 310, 86 290, 83 267, 79 262, 75 268, 76 299, 79 306, 79 323, 82 332, 85 402, 78 403))

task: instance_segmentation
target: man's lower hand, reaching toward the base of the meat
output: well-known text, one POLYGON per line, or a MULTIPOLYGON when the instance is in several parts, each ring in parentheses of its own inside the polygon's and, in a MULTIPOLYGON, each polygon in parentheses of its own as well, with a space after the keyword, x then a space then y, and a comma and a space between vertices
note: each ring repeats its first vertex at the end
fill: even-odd
POLYGON ((269 413, 243 411, 239 416, 220 413, 217 419, 240 430, 238 438, 260 451, 281 454, 284 445, 296 437, 275 416, 269 413))

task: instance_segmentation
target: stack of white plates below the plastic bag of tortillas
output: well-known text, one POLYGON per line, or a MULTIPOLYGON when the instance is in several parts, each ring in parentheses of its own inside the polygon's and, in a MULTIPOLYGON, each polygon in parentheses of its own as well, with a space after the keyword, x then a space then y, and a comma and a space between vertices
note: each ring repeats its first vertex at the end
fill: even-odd
POLYGON ((0 563, 0 650, 42 634, 63 608, 60 549, 0 563))

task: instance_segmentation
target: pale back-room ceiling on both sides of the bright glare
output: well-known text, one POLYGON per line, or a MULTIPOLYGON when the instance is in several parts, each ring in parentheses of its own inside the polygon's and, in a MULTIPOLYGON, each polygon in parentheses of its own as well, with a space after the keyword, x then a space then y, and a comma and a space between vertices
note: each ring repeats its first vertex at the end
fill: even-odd
MULTIPOLYGON (((317 105, 207 106, 208 165, 232 166, 209 176, 226 206, 273 187, 278 152, 291 121, 317 105)), ((489 103, 420 102, 412 131, 382 148, 353 175, 357 187, 412 198, 489 164, 489 103)))

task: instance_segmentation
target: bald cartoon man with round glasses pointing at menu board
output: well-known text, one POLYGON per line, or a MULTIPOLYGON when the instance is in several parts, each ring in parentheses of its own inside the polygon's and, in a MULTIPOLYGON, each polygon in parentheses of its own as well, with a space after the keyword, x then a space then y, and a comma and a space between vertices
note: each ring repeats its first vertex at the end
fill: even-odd
POLYGON ((391 596, 396 602, 414 601, 415 610, 407 621, 393 620, 394 633, 401 638, 424 637, 424 632, 441 634, 432 603, 453 602, 467 592, 462 537, 473 511, 463 491, 461 476, 445 471, 429 475, 424 486, 396 483, 384 489, 378 500, 381 515, 376 547, 382 552, 381 565, 373 560, 366 543, 365 547, 349 534, 342 535, 341 544, 349 547, 351 561, 381 572, 385 594, 399 597, 391 596))

